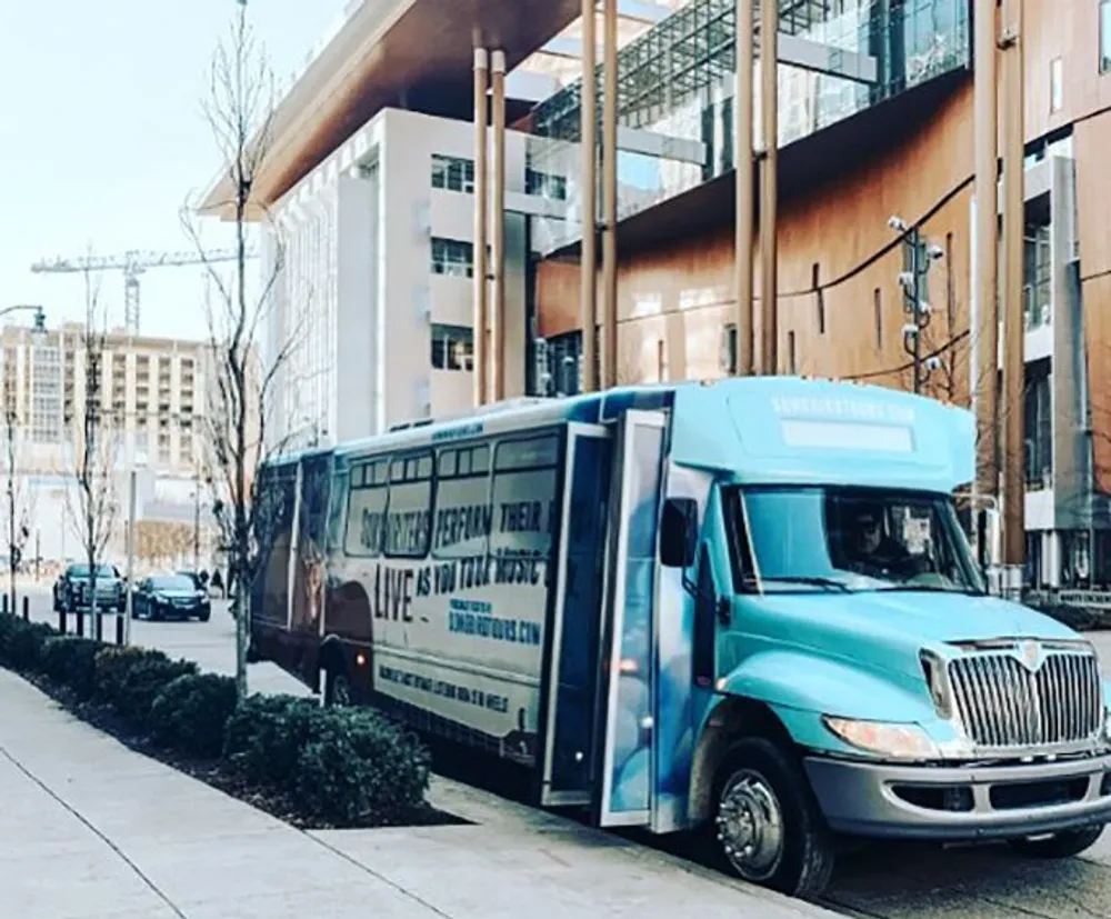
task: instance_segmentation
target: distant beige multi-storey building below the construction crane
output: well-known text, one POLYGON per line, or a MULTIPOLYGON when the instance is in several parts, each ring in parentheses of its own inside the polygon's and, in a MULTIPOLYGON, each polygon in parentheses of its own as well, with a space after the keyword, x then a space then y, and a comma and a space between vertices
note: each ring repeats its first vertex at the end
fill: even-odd
MULTIPOLYGON (((48 560, 82 556, 74 476, 89 391, 87 344, 80 323, 39 334, 7 326, 0 333, 3 404, 13 409, 17 516, 26 516, 31 530, 26 558, 36 550, 48 560)), ((104 448, 91 468, 109 473, 106 488, 112 498, 114 526, 108 557, 120 561, 124 553, 127 470, 132 459, 141 466, 137 518, 192 522, 199 517, 204 540, 210 541, 210 497, 204 485, 204 419, 211 384, 208 347, 113 331, 93 353, 99 361, 99 397, 93 398, 99 400, 104 448)), ((4 426, 6 448, 8 436, 4 426)), ((6 449, 6 475, 7 457, 6 449)))

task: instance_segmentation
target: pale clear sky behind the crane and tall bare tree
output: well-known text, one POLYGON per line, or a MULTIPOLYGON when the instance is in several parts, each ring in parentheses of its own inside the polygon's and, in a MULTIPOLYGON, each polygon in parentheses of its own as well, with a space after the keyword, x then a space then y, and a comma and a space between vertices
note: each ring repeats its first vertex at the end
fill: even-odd
MULTIPOLYGON (((250 0, 283 83, 344 0, 250 0)), ((189 250, 179 219, 219 156, 201 112, 208 67, 236 0, 0 0, 0 309, 40 303, 48 326, 84 318, 81 274, 31 264, 130 249, 189 250)), ((212 224, 219 244, 221 228, 212 224)), ((123 272, 100 274, 108 324, 123 324, 123 272)), ((140 331, 202 338, 197 267, 140 278, 140 331)))

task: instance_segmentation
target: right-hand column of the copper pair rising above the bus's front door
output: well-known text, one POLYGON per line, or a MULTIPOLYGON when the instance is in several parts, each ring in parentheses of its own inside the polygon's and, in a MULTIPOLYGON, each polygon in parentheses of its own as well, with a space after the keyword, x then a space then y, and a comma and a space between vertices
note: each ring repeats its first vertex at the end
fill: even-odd
POLYGON ((760 372, 779 372, 775 194, 779 166, 779 0, 760 0, 760 372))

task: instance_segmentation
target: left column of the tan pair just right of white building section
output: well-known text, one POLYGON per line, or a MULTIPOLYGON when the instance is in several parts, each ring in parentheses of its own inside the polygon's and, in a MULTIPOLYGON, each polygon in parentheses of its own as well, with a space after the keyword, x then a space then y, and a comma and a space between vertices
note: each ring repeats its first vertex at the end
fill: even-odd
POLYGON ((582 257, 579 310, 582 326, 582 391, 598 391, 598 74, 595 0, 582 0, 582 257))

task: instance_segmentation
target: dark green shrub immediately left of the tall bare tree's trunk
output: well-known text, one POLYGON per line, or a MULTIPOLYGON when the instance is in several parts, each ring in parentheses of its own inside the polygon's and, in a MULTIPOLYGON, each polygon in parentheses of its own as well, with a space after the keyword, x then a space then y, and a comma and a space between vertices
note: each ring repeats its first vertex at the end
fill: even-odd
POLYGON ((197 757, 220 756, 224 728, 236 709, 236 681, 214 673, 186 673, 167 683, 150 708, 154 739, 197 757))

